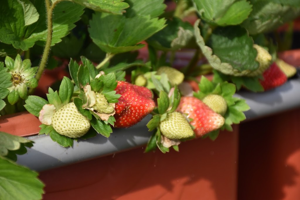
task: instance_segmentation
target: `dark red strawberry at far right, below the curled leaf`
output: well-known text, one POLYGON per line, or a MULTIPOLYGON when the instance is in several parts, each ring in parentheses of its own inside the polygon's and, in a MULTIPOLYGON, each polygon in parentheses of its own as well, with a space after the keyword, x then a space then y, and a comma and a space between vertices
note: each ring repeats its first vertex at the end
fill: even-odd
POLYGON ((262 76, 263 80, 260 80, 260 84, 262 84, 264 90, 269 90, 283 85, 283 83, 287 80, 286 75, 280 70, 276 62, 273 62, 270 67, 264 71, 262 76))

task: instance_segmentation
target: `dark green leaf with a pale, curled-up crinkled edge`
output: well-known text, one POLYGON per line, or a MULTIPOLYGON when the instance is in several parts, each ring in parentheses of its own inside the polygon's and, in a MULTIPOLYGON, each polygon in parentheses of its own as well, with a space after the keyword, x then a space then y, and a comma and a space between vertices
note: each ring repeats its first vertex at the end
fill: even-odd
POLYGON ((197 20, 194 25, 196 42, 214 69, 223 74, 243 76, 259 67, 255 61, 257 51, 253 48, 253 40, 245 29, 239 26, 218 27, 212 33, 208 47, 198 28, 199 22, 197 20))

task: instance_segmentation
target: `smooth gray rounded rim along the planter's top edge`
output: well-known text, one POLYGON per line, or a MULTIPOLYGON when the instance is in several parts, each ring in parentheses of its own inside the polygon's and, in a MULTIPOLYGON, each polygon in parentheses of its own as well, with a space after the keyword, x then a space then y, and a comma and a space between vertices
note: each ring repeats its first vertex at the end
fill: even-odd
MULTIPOLYGON (((246 99, 251 109, 245 115, 247 120, 254 120, 300 107, 300 79, 289 80, 283 86, 267 92, 238 92, 236 96, 246 99)), ((26 154, 18 156, 17 163, 43 171, 145 145, 152 135, 146 127, 150 118, 149 115, 127 129, 114 129, 109 138, 97 135, 88 140, 74 141, 73 147, 69 148, 59 146, 46 135, 29 137, 35 144, 26 154)))

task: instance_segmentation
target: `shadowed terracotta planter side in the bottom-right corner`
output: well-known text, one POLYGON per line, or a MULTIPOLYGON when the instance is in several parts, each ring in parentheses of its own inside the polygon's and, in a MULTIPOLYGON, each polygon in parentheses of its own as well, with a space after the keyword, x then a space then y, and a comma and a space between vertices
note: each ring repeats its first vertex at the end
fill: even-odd
POLYGON ((300 199, 300 108, 240 125, 238 199, 300 199))

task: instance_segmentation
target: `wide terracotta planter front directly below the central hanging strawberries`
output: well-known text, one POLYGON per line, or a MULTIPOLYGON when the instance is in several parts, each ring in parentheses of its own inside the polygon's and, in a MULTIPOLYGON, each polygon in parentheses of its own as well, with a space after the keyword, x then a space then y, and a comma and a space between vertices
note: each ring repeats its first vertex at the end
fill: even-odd
POLYGON ((179 148, 163 154, 142 147, 42 171, 43 199, 236 199, 238 126, 179 148))

